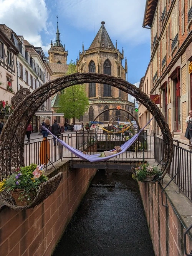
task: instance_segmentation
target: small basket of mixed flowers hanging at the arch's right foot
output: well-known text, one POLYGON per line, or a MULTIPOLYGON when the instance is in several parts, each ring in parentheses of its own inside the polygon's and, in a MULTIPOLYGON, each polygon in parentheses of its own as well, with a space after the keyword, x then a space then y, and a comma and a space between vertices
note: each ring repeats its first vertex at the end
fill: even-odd
POLYGON ((159 173, 157 166, 141 162, 137 167, 132 168, 132 178, 141 182, 154 180, 159 173))

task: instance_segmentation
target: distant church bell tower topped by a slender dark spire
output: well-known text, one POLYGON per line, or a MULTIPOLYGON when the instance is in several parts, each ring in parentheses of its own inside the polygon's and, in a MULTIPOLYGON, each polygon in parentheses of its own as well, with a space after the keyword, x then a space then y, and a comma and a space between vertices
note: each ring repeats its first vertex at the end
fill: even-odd
POLYGON ((49 62, 58 63, 58 64, 67 64, 68 51, 65 51, 65 44, 64 45, 61 44, 58 21, 57 21, 57 32, 55 34, 56 34, 55 44, 53 44, 51 40, 51 48, 48 51, 49 62))

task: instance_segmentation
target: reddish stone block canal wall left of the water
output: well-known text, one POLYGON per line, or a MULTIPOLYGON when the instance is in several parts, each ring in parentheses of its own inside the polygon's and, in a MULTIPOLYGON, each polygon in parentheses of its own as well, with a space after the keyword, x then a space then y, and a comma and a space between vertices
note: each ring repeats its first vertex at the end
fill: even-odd
MULTIPOLYGON (((56 168, 63 178, 43 203, 26 211, 1 205, 0 256, 50 256, 53 252, 96 173, 96 169, 70 172, 67 161, 56 168)), ((53 175, 52 169, 48 176, 53 175)))

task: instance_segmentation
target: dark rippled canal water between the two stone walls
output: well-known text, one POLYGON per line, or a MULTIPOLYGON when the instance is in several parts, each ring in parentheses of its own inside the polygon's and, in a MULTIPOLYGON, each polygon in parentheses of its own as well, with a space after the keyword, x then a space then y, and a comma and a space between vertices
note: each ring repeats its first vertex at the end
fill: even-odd
POLYGON ((155 255, 137 182, 120 172, 97 172, 53 256, 155 255))

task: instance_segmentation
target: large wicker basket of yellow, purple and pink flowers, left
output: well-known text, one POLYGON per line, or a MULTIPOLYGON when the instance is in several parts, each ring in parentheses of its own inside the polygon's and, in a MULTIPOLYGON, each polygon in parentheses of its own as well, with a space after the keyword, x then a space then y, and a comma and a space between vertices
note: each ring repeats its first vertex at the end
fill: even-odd
POLYGON ((13 174, 0 182, 0 192, 8 192, 19 206, 30 204, 41 183, 48 180, 43 174, 44 165, 31 164, 15 169, 13 174))

